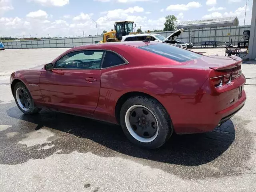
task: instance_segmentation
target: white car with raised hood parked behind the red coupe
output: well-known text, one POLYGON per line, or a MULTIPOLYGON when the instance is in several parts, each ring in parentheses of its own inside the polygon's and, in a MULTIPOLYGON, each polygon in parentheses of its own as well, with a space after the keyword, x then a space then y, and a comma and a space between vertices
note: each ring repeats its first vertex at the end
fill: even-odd
POLYGON ((164 42, 164 43, 173 44, 175 46, 187 49, 188 43, 176 41, 176 39, 180 34, 182 34, 182 32, 184 32, 184 29, 176 30, 175 32, 170 34, 167 38, 165 38, 160 34, 155 34, 155 33, 131 34, 131 35, 123 36, 121 41, 144 41, 148 38, 149 41, 164 42))

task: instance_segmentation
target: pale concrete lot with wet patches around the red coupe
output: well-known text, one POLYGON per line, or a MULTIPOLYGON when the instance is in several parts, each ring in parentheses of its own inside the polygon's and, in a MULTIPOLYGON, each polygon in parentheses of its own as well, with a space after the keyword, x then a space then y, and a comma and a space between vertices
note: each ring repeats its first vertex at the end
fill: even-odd
MULTIPOLYGON (((15 70, 66 48, 0 51, 0 191, 167 192, 256 190, 256 65, 242 64, 247 101, 204 134, 173 135, 157 150, 131 144, 119 126, 42 110, 26 116, 10 90, 15 70)), ((224 48, 195 49, 224 55, 224 48)))

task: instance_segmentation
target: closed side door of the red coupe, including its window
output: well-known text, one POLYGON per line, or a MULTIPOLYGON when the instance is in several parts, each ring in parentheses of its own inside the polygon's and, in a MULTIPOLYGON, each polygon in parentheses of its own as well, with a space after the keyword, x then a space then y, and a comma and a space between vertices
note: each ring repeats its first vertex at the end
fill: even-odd
POLYGON ((93 114, 98 104, 103 50, 70 52, 40 76, 46 106, 75 114, 93 114))

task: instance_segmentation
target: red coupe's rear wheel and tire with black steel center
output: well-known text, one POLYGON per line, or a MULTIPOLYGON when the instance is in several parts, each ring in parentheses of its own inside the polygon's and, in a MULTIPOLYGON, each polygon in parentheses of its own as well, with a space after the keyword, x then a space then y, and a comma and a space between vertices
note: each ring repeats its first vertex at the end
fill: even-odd
POLYGON ((162 146, 173 132, 170 116, 164 107, 146 96, 126 100, 120 111, 120 124, 132 143, 148 149, 162 146))

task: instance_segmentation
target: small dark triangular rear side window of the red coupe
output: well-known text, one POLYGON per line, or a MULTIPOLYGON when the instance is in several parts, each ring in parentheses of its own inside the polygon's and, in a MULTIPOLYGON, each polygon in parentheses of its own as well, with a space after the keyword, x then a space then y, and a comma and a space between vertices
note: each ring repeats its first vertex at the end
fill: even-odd
POLYGON ((116 65, 125 64, 126 62, 117 54, 111 51, 106 51, 102 68, 112 67, 116 65))

